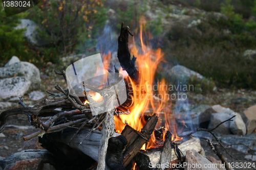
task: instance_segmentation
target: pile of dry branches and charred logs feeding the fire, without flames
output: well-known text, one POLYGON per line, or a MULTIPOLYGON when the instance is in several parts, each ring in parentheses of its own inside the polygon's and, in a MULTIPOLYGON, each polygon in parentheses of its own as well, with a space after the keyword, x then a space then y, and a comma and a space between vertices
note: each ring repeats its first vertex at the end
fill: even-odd
MULTIPOLYGON (((140 73, 135 67, 136 58, 133 56, 131 59, 129 52, 129 34, 133 36, 130 28, 124 27, 122 23, 118 38, 117 57, 121 67, 127 72, 130 79, 139 82, 140 73)), ((109 71, 111 72, 111 70, 109 71)), ((56 74, 62 76, 67 83, 69 82, 64 70, 56 71, 56 74)), ((102 96, 103 100, 100 105, 104 103, 107 107, 104 113, 92 114, 90 105, 85 104, 85 101, 89 98, 92 100, 88 91, 83 90, 84 96, 80 97, 74 94, 71 95, 69 90, 56 85, 55 89, 59 93, 47 91, 54 96, 54 100, 45 99, 34 107, 27 107, 23 99, 20 98, 19 104, 23 107, 2 112, 0 114, 0 132, 4 130, 8 116, 26 114, 31 125, 39 130, 24 137, 24 140, 30 140, 38 136, 39 142, 52 153, 51 156, 55 160, 53 162, 53 159, 46 159, 45 162, 53 164, 56 169, 123 170, 135 169, 136 167, 139 169, 153 169, 155 168, 151 166, 153 164, 178 164, 184 161, 187 151, 190 150, 203 154, 200 140, 190 136, 194 132, 183 134, 183 139, 176 141, 175 135, 169 131, 155 129, 159 120, 157 114, 142 115, 146 123, 140 131, 126 123, 121 134, 116 133, 114 116, 130 114, 129 107, 133 103, 132 100, 129 100, 132 96, 127 95, 127 100, 121 106, 115 107, 116 93, 110 93, 109 91, 113 85, 120 82, 121 75, 116 68, 114 75, 109 85, 100 89, 81 83, 102 96), (61 110, 58 108, 61 108, 61 110), (156 140, 163 141, 162 144, 146 151, 141 150, 143 145, 150 141, 152 133, 156 134, 156 140), (165 136, 164 139, 163 136, 165 136)), ((127 93, 132 91, 131 87, 127 85, 127 80, 124 83, 126 89, 116 88, 116 90, 126 90, 127 93)), ((204 129, 197 129, 197 131, 199 130, 204 129)), ((214 135, 212 130, 207 131, 214 135)), ((218 138, 217 142, 220 144, 218 138)), ((208 141, 208 143, 216 151, 216 145, 212 144, 211 141, 208 141)), ((193 152, 191 151, 191 153, 193 152)), ((219 154, 218 151, 216 153, 219 154)), ((225 158, 221 154, 218 156, 222 157, 222 162, 225 162, 225 158)), ((165 167, 157 168, 166 169, 165 167)))

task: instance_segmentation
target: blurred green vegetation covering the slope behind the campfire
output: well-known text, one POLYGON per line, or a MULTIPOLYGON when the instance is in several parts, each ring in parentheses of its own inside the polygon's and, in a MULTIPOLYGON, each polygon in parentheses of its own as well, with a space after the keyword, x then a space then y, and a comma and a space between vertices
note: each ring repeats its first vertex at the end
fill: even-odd
MULTIPOLYGON (((124 21, 136 34, 140 16, 152 13, 157 15, 145 25, 152 34, 149 41, 153 47, 162 48, 168 62, 195 70, 219 87, 256 88, 256 57, 244 55, 256 50, 254 0, 44 0, 10 17, 0 6, 1 60, 5 63, 15 55, 42 68, 70 54, 95 54, 97 38, 107 22, 113 33, 119 32, 124 21), (176 8, 182 9, 179 16, 193 17, 177 18, 168 25, 168 19, 178 14, 176 8), (195 11, 199 12, 193 14, 195 11), (29 44, 24 30, 14 29, 20 18, 35 21, 39 37, 47 43, 29 44), (200 21, 188 27, 193 20, 200 21)), ((191 82, 202 88, 213 86, 206 80, 191 82)))

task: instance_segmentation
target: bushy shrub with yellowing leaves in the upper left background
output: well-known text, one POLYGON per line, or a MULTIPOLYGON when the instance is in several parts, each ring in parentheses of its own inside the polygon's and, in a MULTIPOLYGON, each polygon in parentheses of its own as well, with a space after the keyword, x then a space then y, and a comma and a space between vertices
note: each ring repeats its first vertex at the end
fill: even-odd
POLYGON ((50 42, 39 48, 40 59, 56 62, 58 56, 81 53, 80 44, 95 41, 106 21, 103 1, 50 0, 32 8, 28 18, 39 24, 39 37, 50 42))

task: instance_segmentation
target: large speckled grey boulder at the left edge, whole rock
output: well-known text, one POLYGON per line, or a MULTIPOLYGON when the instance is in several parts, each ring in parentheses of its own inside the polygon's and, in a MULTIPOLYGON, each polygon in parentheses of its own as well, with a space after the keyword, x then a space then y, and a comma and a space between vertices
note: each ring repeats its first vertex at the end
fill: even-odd
POLYGON ((40 82, 39 69, 29 62, 22 62, 16 56, 0 68, 0 98, 24 95, 32 83, 40 82))

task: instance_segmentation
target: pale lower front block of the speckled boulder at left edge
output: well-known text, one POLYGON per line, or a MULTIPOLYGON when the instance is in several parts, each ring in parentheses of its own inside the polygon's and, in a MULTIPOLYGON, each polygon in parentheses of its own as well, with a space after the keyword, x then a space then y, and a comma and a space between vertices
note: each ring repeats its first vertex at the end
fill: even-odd
POLYGON ((30 85, 31 82, 24 76, 0 79, 0 98, 23 96, 30 85))

